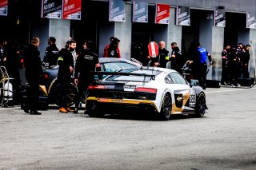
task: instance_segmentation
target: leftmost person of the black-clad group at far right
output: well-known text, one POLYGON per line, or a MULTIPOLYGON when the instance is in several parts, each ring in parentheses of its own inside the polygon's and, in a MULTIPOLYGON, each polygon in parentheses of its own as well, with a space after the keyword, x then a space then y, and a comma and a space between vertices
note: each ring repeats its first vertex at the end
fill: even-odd
POLYGON ((229 85, 230 83, 230 44, 227 44, 225 48, 222 50, 222 85, 229 85))

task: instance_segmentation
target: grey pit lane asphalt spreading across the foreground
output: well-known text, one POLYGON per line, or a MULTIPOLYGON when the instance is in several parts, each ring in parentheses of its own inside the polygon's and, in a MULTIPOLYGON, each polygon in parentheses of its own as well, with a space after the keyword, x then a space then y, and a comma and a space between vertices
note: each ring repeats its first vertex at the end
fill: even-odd
POLYGON ((256 169, 256 89, 206 89, 206 117, 0 108, 0 169, 256 169))

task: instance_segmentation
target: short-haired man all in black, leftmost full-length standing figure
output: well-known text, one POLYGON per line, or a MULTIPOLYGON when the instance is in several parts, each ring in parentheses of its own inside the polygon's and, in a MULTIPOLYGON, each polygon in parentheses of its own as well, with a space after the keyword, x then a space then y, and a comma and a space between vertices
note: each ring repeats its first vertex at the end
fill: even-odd
POLYGON ((24 109, 26 113, 41 115, 38 113, 38 97, 39 97, 39 82, 42 78, 42 64, 40 52, 38 51, 39 38, 32 38, 31 44, 24 51, 25 76, 28 83, 27 97, 28 109, 24 109))

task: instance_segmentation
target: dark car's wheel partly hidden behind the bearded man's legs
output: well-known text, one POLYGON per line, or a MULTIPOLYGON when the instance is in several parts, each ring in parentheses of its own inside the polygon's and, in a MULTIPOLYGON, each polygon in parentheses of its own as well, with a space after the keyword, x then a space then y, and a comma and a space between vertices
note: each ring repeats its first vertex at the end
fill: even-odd
MULTIPOLYGON (((54 79, 54 81, 50 85, 50 99, 54 101, 54 104, 59 106, 59 83, 57 78, 54 79)), ((69 88, 67 89, 67 96, 66 96, 66 106, 70 107, 71 105, 74 105, 75 97, 78 95, 78 89, 73 83, 70 83, 69 88)))

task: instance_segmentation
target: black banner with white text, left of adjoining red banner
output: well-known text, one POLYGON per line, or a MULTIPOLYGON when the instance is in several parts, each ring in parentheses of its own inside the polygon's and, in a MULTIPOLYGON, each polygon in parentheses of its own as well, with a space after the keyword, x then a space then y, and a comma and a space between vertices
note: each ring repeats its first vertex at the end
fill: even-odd
POLYGON ((42 0, 42 18, 61 19, 62 0, 42 0))

